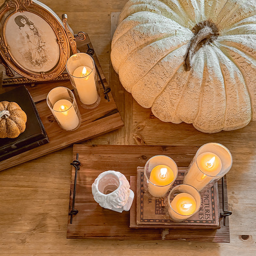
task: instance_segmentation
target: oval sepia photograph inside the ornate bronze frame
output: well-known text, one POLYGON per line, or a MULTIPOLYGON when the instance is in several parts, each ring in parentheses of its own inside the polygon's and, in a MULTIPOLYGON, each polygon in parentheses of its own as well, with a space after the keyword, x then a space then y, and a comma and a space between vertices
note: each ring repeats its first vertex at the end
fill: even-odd
POLYGON ((16 63, 28 72, 47 72, 58 64, 60 49, 55 32, 40 16, 16 12, 6 20, 5 40, 16 63))

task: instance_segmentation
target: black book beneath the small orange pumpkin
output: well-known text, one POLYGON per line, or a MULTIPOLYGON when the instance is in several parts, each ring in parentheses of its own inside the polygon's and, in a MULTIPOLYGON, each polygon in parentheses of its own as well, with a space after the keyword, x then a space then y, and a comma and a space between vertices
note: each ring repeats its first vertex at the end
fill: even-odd
POLYGON ((0 94, 1 101, 17 102, 20 108, 26 113, 27 122, 25 131, 17 138, 0 139, 0 161, 49 143, 35 103, 25 86, 0 94))

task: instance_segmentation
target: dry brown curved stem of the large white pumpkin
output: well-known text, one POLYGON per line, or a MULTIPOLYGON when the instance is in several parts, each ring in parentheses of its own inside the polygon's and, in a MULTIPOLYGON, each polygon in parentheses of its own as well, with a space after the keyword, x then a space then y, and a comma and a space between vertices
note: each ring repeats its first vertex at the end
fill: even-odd
POLYGON ((192 38, 188 53, 185 58, 185 68, 189 71, 192 66, 192 59, 195 53, 204 45, 212 43, 219 35, 218 28, 215 23, 210 20, 204 20, 192 29, 195 36, 192 38))

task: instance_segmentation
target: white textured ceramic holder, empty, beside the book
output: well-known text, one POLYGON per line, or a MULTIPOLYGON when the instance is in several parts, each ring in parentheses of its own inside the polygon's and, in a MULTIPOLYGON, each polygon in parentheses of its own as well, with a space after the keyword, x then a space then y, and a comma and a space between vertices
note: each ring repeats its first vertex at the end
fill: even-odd
POLYGON ((128 211, 134 199, 134 192, 121 172, 102 172, 92 184, 94 200, 103 208, 116 212, 128 211))

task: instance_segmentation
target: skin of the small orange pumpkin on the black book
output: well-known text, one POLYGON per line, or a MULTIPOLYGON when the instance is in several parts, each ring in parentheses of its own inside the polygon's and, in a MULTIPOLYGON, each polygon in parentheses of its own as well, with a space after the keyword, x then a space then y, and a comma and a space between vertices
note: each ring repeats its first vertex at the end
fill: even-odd
POLYGON ((7 110, 10 116, 0 119, 0 138, 16 138, 26 128, 26 113, 16 102, 0 102, 0 111, 7 110))

